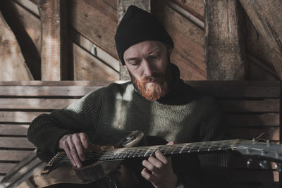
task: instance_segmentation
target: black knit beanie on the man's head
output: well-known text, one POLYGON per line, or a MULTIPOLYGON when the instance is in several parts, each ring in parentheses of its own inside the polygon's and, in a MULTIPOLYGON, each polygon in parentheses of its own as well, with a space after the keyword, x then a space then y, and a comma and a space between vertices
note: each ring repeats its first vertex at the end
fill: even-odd
POLYGON ((116 50, 121 63, 125 64, 123 59, 125 50, 146 40, 160 41, 173 48, 171 36, 157 18, 137 6, 129 6, 116 29, 115 36, 116 50))

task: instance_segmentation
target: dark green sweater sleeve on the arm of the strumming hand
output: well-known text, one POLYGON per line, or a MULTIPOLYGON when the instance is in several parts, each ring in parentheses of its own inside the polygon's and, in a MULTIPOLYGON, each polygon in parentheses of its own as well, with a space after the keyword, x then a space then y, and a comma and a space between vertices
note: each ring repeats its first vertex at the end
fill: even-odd
POLYGON ((104 89, 87 94, 62 110, 39 115, 30 124, 27 138, 40 151, 56 153, 59 139, 65 134, 94 131, 104 89))

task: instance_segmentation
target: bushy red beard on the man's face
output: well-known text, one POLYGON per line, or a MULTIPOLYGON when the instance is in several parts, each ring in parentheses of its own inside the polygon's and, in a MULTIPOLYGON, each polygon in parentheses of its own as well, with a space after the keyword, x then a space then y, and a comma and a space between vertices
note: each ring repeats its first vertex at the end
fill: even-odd
POLYGON ((153 74, 152 76, 142 77, 141 80, 138 80, 130 73, 130 77, 133 80, 135 89, 149 101, 161 99, 161 97, 168 93, 168 86, 171 80, 169 69, 166 71, 166 75, 153 74))

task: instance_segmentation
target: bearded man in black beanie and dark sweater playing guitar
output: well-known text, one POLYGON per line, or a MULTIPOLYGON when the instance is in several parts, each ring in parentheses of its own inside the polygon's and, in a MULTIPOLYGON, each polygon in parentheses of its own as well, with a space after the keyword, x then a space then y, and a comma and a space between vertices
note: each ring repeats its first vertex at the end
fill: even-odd
MULTIPOLYGON (((81 168, 85 150, 111 147, 115 144, 111 138, 121 132, 142 130, 145 135, 173 141, 168 144, 222 136, 219 107, 212 97, 199 94, 180 80, 178 68, 170 62, 173 41, 159 20, 130 6, 118 25, 115 40, 118 56, 128 68, 132 82, 110 84, 63 110, 39 115, 27 132, 28 139, 39 151, 54 154, 64 150, 73 166, 81 168)), ((126 186, 142 184, 145 180, 149 184, 143 187, 219 187, 221 184, 219 177, 201 178, 204 172, 197 156, 174 159, 173 162, 156 151, 155 157, 142 161, 144 169, 139 172, 142 180, 126 186)), ((134 175, 126 173, 126 165, 116 172, 122 173, 116 173, 116 177, 123 185, 125 174, 128 174, 125 180, 135 180, 134 175)))

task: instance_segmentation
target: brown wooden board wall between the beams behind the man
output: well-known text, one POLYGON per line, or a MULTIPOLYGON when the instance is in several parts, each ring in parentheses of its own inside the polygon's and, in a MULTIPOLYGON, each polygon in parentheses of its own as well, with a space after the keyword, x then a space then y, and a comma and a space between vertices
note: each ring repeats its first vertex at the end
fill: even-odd
MULTIPOLYGON (((120 68, 114 44, 118 25, 117 1, 71 0, 67 3, 68 70, 64 70, 67 77, 63 80, 119 80, 120 68)), ((171 61, 179 66, 184 80, 208 79, 204 6, 204 0, 152 0, 151 3, 152 13, 164 23, 175 42, 171 61)), ((264 36, 256 30, 243 7, 238 6, 242 10, 240 24, 247 65, 244 79, 280 80, 271 62, 274 58, 271 48, 265 44, 264 36)), ((32 77, 42 80, 42 23, 37 0, 4 0, 0 8, 18 40, 19 54, 23 54, 32 77)), ((11 76, 5 80, 15 79, 11 76)))

